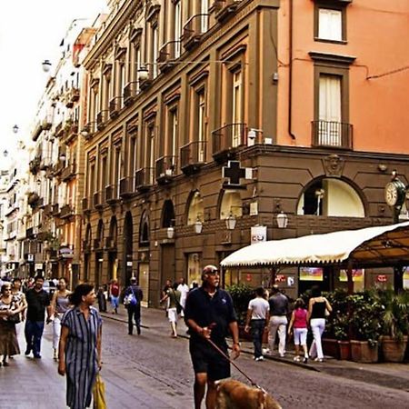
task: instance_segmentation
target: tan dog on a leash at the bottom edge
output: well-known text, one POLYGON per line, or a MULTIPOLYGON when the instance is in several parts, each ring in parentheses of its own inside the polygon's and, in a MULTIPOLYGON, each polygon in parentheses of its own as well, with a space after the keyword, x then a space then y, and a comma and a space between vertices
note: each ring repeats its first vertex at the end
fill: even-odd
POLYGON ((282 409, 264 390, 228 379, 216 381, 216 409, 282 409))

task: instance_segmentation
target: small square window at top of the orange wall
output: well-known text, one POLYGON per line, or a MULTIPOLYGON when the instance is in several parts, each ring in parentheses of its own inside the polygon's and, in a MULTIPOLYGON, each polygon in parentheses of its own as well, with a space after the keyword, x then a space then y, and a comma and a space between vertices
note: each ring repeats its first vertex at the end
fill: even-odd
POLYGON ((351 0, 317 0, 314 9, 316 41, 346 43, 346 6, 351 0))

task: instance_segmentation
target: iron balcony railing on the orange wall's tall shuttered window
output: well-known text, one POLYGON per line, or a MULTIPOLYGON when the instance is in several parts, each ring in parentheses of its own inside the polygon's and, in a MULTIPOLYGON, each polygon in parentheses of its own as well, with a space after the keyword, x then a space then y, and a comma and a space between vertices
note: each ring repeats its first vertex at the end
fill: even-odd
POLYGON ((353 125, 334 121, 313 121, 311 125, 313 146, 353 148, 353 125))

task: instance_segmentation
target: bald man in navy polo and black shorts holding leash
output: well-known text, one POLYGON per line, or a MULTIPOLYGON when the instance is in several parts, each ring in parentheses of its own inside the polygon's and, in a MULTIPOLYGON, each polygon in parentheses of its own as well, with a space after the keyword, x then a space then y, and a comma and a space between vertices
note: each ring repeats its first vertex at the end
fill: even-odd
POLYGON ((215 408, 214 382, 230 376, 230 363, 214 348, 227 352, 225 337, 233 338, 233 358, 240 354, 237 317, 230 294, 219 288, 217 267, 206 265, 202 272, 203 284, 186 298, 185 323, 189 327, 189 351, 195 371, 195 409, 200 409, 206 393, 206 408, 215 408))

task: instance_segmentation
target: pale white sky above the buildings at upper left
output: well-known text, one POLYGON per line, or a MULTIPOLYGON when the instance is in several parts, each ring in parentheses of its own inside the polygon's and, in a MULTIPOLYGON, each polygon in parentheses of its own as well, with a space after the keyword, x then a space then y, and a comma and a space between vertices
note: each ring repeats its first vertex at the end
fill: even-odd
POLYGON ((36 105, 48 75, 41 63, 56 65, 59 45, 75 18, 92 18, 106 10, 106 0, 13 0, 0 12, 0 168, 18 140, 30 137, 36 105), (13 126, 18 125, 17 135, 13 126))

